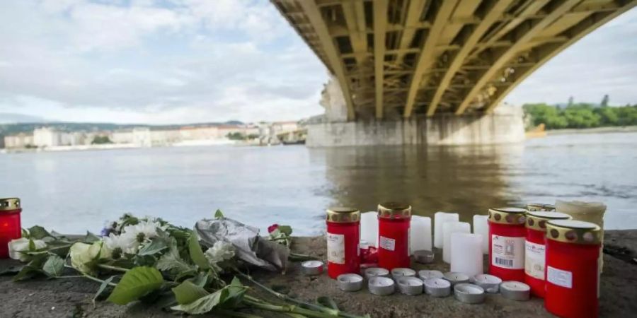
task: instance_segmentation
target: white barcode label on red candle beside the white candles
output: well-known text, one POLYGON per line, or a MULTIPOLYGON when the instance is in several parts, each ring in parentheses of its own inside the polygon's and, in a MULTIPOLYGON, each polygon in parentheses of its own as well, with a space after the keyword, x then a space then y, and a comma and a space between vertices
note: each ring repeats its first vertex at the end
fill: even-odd
POLYGON ((524 269, 524 237, 491 235, 491 264, 503 269, 524 269))

